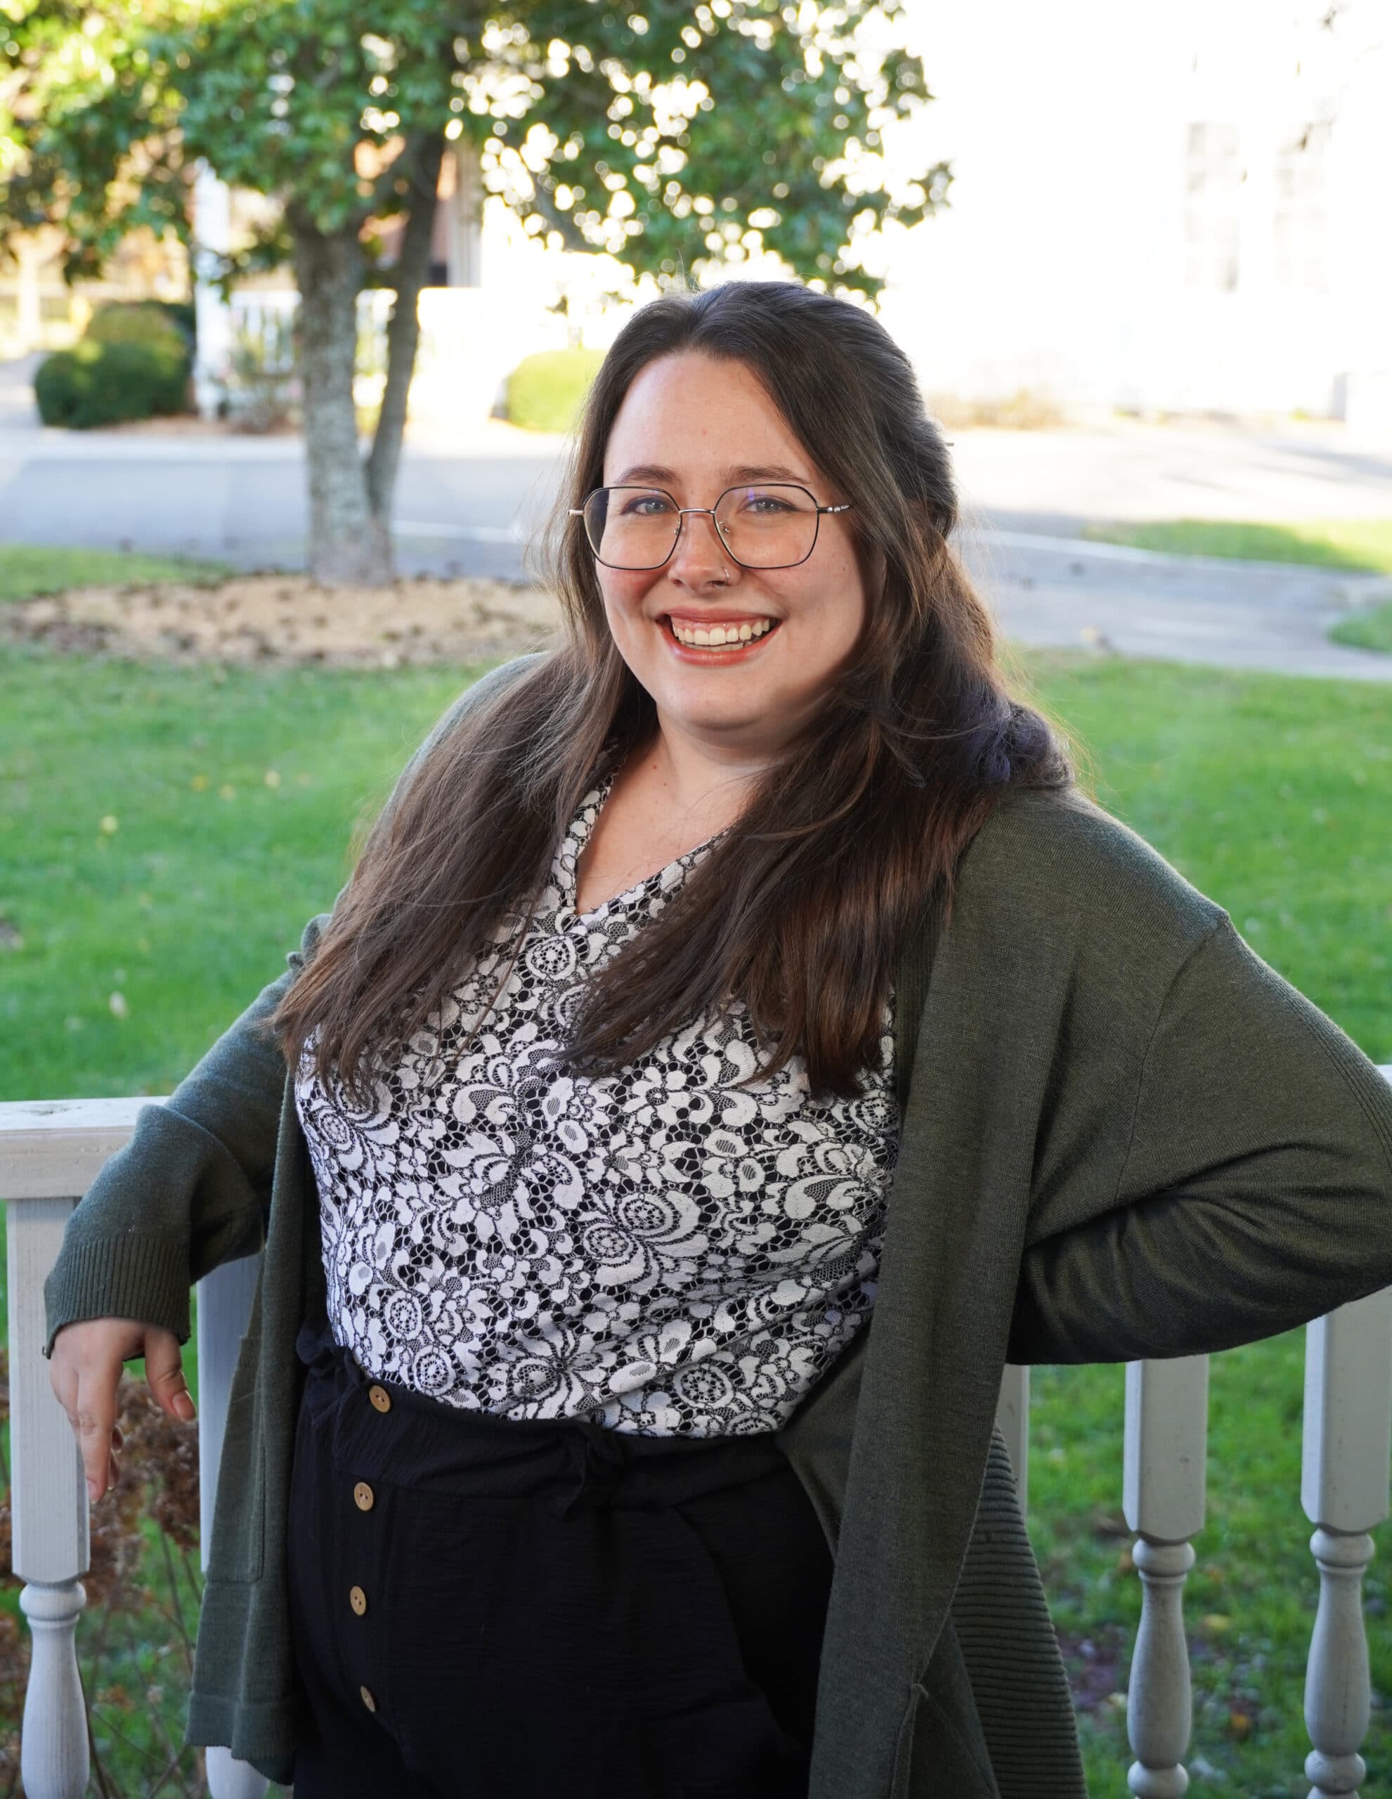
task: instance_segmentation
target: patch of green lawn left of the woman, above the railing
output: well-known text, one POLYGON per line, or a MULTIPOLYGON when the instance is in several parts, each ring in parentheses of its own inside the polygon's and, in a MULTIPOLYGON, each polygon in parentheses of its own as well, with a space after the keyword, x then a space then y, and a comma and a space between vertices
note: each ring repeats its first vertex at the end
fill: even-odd
POLYGON ((169 1092, 333 905, 354 817, 469 678, 9 649, 0 1092, 169 1092))

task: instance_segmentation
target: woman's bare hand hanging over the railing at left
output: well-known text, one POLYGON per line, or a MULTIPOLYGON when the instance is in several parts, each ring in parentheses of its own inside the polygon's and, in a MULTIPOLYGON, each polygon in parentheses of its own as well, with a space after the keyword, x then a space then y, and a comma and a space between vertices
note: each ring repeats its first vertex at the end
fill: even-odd
POLYGON ((83 1319, 65 1324, 54 1337, 49 1380, 77 1437, 92 1500, 101 1499, 120 1475, 115 1396, 122 1362, 137 1356, 146 1358, 146 1380, 160 1410, 187 1423, 194 1403, 173 1331, 138 1319, 83 1319))

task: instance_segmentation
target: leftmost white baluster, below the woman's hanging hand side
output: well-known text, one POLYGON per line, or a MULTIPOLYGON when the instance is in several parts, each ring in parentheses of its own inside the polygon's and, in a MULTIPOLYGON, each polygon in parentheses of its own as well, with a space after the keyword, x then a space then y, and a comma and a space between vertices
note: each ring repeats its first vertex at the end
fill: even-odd
POLYGON ((23 1700, 20 1777, 27 1799, 81 1799, 90 1772, 77 1619, 86 1605, 86 1482, 77 1443, 43 1360, 43 1281, 72 1198, 7 1205, 9 1405, 14 1572, 34 1651, 23 1700))

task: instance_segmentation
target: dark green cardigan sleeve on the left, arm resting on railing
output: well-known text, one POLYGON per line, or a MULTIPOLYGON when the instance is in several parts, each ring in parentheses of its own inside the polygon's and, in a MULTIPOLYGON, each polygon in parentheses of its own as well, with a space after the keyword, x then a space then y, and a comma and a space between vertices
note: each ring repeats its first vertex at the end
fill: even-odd
MULTIPOLYGON (((518 657, 493 669, 448 707, 401 772, 383 819, 464 712, 534 660, 518 657)), ((45 1355, 65 1324, 99 1317, 160 1324, 187 1342, 194 1281, 261 1249, 286 1085, 284 1056, 264 1024, 331 917, 311 917, 299 950, 286 955, 286 971, 261 989, 164 1105, 140 1108, 129 1142, 79 1200, 43 1286, 45 1355)))

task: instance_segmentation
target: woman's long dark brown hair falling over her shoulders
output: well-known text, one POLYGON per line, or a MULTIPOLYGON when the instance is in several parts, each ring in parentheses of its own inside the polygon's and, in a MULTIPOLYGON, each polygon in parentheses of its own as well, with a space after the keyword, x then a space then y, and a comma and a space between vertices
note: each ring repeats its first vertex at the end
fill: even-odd
MULTIPOLYGON (((959 506, 942 435, 885 327, 791 282, 664 295, 615 338, 572 446, 543 545, 561 646, 403 783, 275 1013, 290 1067, 318 1025, 315 1072, 335 1067, 358 1105, 367 1049, 408 1042, 504 914, 532 916, 584 792, 656 730, 565 509, 602 484, 633 378, 676 351, 732 358, 763 381, 852 502, 863 565, 879 550, 887 574, 879 594, 867 590, 865 626, 820 714, 671 903, 586 979, 558 1060, 608 1072, 741 998, 772 1051, 750 1079, 802 1054, 815 1101, 858 1094, 905 935, 928 905, 950 917, 964 847, 1011 788, 1074 779, 1045 718, 1005 689, 991 619, 948 543, 959 506)), ((502 980, 493 1000, 500 991, 502 980)))

